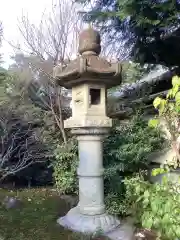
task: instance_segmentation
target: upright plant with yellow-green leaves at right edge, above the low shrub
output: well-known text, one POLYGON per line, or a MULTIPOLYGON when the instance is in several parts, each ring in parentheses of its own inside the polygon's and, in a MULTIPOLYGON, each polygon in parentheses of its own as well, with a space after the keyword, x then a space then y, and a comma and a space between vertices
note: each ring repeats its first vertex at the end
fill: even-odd
POLYGON ((157 97, 153 105, 158 110, 158 116, 149 121, 149 126, 156 128, 163 120, 170 135, 170 143, 175 151, 175 158, 168 164, 174 168, 180 167, 179 130, 180 130, 180 77, 172 78, 172 89, 166 95, 166 99, 157 97))

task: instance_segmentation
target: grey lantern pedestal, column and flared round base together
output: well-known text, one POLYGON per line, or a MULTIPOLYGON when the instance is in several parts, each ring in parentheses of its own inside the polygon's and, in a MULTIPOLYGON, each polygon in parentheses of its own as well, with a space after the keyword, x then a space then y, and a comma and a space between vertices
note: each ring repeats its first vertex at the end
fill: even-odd
POLYGON ((120 221, 105 212, 103 181, 103 137, 107 128, 73 129, 79 145, 79 204, 58 223, 71 230, 108 233, 120 221))

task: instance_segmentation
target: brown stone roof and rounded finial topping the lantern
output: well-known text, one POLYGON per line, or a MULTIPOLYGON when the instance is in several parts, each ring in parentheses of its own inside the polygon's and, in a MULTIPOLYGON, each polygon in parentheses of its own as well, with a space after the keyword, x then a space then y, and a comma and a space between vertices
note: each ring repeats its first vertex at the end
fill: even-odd
POLYGON ((107 88, 121 83, 120 63, 110 63, 99 56, 101 38, 91 27, 79 36, 79 56, 66 66, 57 65, 53 75, 58 85, 72 88, 83 83, 105 84, 107 88))

